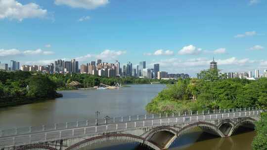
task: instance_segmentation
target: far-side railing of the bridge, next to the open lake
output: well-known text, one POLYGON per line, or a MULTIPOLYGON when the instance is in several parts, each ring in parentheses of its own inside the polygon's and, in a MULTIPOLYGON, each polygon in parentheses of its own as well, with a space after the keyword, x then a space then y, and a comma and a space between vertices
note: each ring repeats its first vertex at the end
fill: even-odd
MULTIPOLYGON (((223 110, 208 110, 208 111, 186 111, 186 112, 177 112, 177 113, 160 113, 160 114, 142 114, 142 115, 129 115, 122 117, 110 117, 107 119, 97 119, 97 125, 119 123, 119 122, 133 122, 139 120, 149 120, 149 119, 164 119, 180 116, 194 116, 194 115, 203 115, 203 114, 219 114, 226 112, 244 112, 244 111, 256 111, 259 110, 257 107, 254 108, 236 108, 236 109, 223 109, 223 110)), ((44 131, 53 131, 61 129, 72 129, 77 127, 86 127, 86 126, 95 126, 95 119, 64 122, 64 123, 52 123, 45 124, 40 126, 30 126, 30 127, 19 127, 12 129, 5 129, 0 131, 0 137, 11 136, 11 135, 20 135, 27 133, 38 133, 44 131)))

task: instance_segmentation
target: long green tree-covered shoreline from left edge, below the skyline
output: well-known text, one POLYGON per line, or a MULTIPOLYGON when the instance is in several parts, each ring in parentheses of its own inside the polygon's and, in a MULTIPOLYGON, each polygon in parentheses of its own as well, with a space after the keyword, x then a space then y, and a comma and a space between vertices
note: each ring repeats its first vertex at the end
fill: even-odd
POLYGON ((42 102, 62 97, 56 90, 73 90, 77 87, 69 86, 72 81, 81 83, 80 88, 99 86, 100 83, 114 85, 148 84, 160 82, 172 84, 175 80, 157 80, 133 77, 101 77, 88 74, 42 74, 39 72, 5 72, 0 71, 0 107, 16 106, 42 102))

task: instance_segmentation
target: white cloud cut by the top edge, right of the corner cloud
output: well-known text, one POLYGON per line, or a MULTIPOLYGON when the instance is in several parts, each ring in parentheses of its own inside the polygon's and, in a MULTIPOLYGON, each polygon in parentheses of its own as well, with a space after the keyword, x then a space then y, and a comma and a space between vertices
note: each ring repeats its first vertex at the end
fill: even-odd
POLYGON ((104 6, 109 3, 109 0, 55 0, 57 5, 68 5, 73 8, 94 9, 99 6, 104 6))

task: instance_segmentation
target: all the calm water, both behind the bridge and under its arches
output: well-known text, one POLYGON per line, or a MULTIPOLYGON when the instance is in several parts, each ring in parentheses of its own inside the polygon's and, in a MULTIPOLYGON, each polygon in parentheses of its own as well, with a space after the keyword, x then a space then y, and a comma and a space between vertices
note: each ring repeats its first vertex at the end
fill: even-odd
MULTIPOLYGON (((60 91, 63 98, 41 103, 0 109, 0 129, 37 126, 55 122, 92 119, 109 115, 144 114, 145 106, 166 85, 131 85, 117 90, 60 91)), ((169 150, 251 150, 254 131, 240 129, 229 138, 219 138, 202 131, 187 133, 178 138, 169 150)), ((112 142, 95 150, 151 150, 136 143, 112 142)), ((84 150, 89 150, 85 148, 84 150)))

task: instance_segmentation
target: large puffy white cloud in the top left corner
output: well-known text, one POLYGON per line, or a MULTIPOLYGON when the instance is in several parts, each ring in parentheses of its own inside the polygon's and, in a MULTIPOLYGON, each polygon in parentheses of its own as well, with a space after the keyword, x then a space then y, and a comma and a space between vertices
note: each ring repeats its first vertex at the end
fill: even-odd
POLYGON ((47 10, 31 2, 21 4, 15 0, 0 0, 0 19, 9 18, 22 21, 25 18, 43 18, 47 10))

